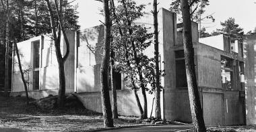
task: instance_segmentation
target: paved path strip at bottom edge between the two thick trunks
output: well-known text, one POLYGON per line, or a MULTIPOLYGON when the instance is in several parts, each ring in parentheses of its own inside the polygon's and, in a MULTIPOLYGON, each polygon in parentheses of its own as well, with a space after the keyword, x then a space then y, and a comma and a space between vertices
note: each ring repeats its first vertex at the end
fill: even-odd
POLYGON ((147 132, 161 132, 161 131, 181 131, 186 129, 192 129, 191 125, 158 125, 158 126, 148 126, 148 127, 132 127, 132 128, 124 128, 124 129, 114 129, 114 130, 106 130, 106 131, 127 131, 127 132, 135 132, 135 131, 147 131, 147 132))

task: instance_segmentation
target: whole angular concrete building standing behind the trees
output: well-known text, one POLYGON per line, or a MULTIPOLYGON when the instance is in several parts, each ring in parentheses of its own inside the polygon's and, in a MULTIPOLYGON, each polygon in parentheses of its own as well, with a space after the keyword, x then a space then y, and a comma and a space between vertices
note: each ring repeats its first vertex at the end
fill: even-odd
MULTIPOLYGON (((161 68, 166 71, 161 81, 162 118, 191 122, 189 96, 185 76, 185 60, 182 40, 182 24, 177 24, 176 14, 166 9, 158 13, 161 68)), ((145 18, 146 26, 152 27, 152 16, 145 18)), ((153 29, 153 28, 152 28, 153 29)), ((211 40, 198 39, 197 23, 192 23, 193 48, 197 84, 203 106, 206 125, 245 124, 245 88, 243 85, 243 45, 231 44, 226 36, 214 36, 211 40), (218 40, 218 41, 216 41, 218 40), (205 44, 201 42, 205 41, 205 44), (234 49, 231 50, 231 45, 234 49), (237 46, 236 46, 237 45, 237 46), (237 51, 237 52, 236 52, 237 51)), ((100 64, 102 61, 102 25, 85 29, 80 33, 67 31, 70 55, 65 63, 67 93, 76 92, 87 109, 101 112, 100 64)), ((65 44, 61 39, 62 52, 65 44)), ((31 66, 26 79, 33 82, 29 94, 42 98, 57 94, 58 70, 53 41, 49 36, 39 36, 18 44, 23 54, 22 64, 31 66)), ((152 57, 154 46, 146 50, 152 57)), ((13 54, 13 61, 16 61, 13 54)), ((139 116, 135 95, 125 85, 123 74, 115 74, 117 104, 120 115, 139 116)), ((13 63, 12 96, 24 95, 18 64, 13 63)), ((141 105, 143 105, 141 92, 141 105)), ((148 111, 152 109, 153 95, 148 94, 148 111)), ((150 114, 150 113, 149 113, 150 114)))

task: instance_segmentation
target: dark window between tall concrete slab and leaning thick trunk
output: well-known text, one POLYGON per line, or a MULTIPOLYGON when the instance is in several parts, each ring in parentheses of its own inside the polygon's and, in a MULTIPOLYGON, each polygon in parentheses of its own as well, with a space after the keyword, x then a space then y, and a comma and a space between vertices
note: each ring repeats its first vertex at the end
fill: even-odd
POLYGON ((177 50, 175 54, 175 66, 176 66, 176 87, 187 87, 187 75, 185 66, 184 50, 177 50))

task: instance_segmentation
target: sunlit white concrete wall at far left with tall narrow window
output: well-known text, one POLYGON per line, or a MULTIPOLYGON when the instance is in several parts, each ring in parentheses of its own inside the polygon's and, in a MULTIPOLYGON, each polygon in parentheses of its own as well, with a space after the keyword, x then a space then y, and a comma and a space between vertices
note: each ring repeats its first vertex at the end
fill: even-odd
MULTIPOLYGON (((66 76, 66 91, 71 93, 74 91, 74 31, 66 32, 70 44, 70 54, 65 62, 65 76, 66 76)), ((33 67, 33 42, 40 41, 39 50, 39 90, 56 90, 59 88, 59 65, 57 63, 57 57, 55 54, 55 46, 53 45, 53 40, 50 38, 51 35, 38 36, 20 42, 17 44, 20 56, 22 68, 26 70, 28 66, 33 67)), ((61 38, 61 52, 65 53, 65 44, 63 44, 63 38, 61 38)), ((13 52, 14 53, 14 52, 13 52)), ((33 72, 30 70, 28 74, 25 74, 25 79, 33 82, 33 72)), ((22 78, 20 76, 20 69, 18 68, 18 58, 13 57, 13 74, 12 74, 12 92, 23 92, 24 86, 22 78)), ((28 85, 28 90, 36 92, 38 90, 33 90, 33 83, 28 85)), ((39 92, 38 92, 39 93, 39 92)), ((40 92, 42 93, 42 92, 40 92)), ((57 94, 57 93, 56 93, 57 94)), ((32 95, 32 94, 31 94, 32 95)), ((48 94, 42 94, 42 96, 48 96, 48 94)))

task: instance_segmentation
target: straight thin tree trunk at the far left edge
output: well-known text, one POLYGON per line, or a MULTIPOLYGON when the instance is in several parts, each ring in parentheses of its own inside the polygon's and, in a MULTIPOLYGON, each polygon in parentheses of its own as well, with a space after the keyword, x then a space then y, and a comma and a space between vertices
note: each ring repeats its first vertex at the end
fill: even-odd
POLYGON ((5 96, 9 90, 9 0, 6 0, 6 44, 5 44, 5 96))

